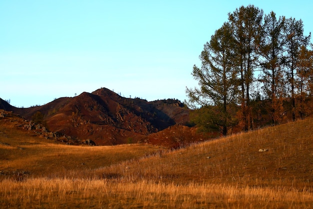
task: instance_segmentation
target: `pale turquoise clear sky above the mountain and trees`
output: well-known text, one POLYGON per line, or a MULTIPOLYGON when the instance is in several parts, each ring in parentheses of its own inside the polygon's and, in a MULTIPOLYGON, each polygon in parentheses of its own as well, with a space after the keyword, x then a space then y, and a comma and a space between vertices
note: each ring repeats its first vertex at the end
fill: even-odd
POLYGON ((0 0, 0 98, 29 107, 106 87, 183 101, 205 42, 249 4, 313 31, 310 0, 0 0))

